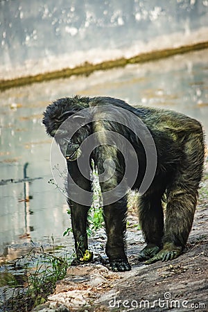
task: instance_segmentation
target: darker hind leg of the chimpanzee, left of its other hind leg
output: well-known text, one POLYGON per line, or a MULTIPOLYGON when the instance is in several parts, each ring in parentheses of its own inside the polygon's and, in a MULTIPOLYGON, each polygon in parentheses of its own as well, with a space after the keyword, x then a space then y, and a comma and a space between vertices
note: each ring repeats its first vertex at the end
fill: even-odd
POLYGON ((139 260, 152 258, 159 252, 164 232, 164 215, 162 209, 162 193, 145 193, 139 198, 139 223, 147 243, 139 252, 139 260))

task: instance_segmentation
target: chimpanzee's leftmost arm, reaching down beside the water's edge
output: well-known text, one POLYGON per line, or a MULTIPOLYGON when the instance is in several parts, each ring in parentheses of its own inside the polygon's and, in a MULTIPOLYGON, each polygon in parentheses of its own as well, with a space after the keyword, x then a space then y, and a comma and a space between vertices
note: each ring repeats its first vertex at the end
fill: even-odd
MULTIPOLYGON (((68 204, 71 211, 71 225, 73 231, 73 237, 75 240, 75 249, 76 249, 76 259, 73 260, 72 264, 78 264, 80 262, 80 258, 83 258, 85 251, 88 249, 87 243, 87 212, 89 210, 89 193, 88 196, 83 191, 77 191, 76 186, 80 187, 85 191, 92 193, 92 184, 89 180, 89 172, 85 172, 84 177, 82 173, 80 173, 80 169, 78 168, 78 164, 76 161, 67 162, 68 166, 68 204), (87 197, 85 197, 87 196, 87 197), (71 199, 73 198, 73 200, 71 199), (74 200, 74 198, 77 198, 74 200), (85 202, 87 204, 85 205, 85 202)), ((89 168, 86 165, 86 168, 89 168)), ((91 260, 91 259, 88 259, 91 260)))

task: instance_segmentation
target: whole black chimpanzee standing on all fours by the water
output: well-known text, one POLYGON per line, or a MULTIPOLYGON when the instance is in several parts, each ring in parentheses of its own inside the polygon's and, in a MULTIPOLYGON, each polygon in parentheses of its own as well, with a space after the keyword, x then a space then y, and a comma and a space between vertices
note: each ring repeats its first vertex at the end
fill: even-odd
POLYGON ((73 264, 90 260, 84 255, 92 159, 103 195, 105 251, 111 269, 131 269, 125 253, 128 188, 139 190, 139 222, 146 241, 139 261, 168 261, 182 253, 193 223, 204 161, 204 136, 198 121, 171 110, 135 108, 117 98, 74 96, 46 107, 43 123, 67 159, 76 248, 73 264))

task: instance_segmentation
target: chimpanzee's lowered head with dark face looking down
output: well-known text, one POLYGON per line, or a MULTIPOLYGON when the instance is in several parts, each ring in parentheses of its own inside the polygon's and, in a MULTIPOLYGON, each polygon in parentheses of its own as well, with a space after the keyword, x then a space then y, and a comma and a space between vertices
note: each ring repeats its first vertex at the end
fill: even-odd
POLYGON ((88 98, 80 105, 82 98, 60 98, 46 108, 43 123, 46 132, 55 138, 67 161, 76 160, 81 155, 80 145, 89 136, 91 125, 89 114, 83 114, 88 98))

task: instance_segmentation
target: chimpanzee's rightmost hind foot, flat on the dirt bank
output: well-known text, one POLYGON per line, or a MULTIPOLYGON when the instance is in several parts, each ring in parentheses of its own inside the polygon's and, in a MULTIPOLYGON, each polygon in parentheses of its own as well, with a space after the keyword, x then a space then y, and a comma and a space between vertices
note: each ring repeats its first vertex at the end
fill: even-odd
POLYGON ((145 264, 155 263, 157 261, 168 261, 173 260, 180 256, 182 253, 182 247, 175 246, 173 243, 166 243, 164 248, 160 250, 155 256, 148 261, 145 261, 145 264))

